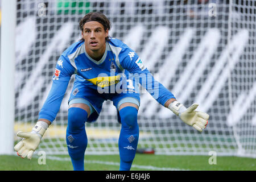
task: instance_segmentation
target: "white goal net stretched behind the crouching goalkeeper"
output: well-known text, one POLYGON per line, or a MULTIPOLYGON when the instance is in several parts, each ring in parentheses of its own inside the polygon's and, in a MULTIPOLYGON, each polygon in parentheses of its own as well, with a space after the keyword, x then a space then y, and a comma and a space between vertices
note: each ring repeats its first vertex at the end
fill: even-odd
MULTIPOLYGON (((46 100, 56 61, 80 38, 79 20, 101 11, 110 36, 134 49, 185 106, 210 115, 203 133, 142 92, 138 148, 156 154, 256 156, 256 1, 17 1, 15 123, 31 131, 46 100)), ((65 143, 72 80, 37 151, 68 154, 65 143)), ((85 154, 118 154, 121 126, 112 101, 86 123, 85 154)), ((15 137, 15 142, 20 138, 15 137)))

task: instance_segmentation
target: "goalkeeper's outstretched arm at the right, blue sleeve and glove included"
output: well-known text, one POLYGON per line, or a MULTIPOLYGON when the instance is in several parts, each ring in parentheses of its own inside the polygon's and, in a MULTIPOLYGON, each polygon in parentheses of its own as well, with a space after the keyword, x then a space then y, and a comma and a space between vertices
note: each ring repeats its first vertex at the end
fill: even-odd
POLYGON ((207 126, 209 115, 201 111, 196 111, 198 104, 193 104, 186 108, 183 104, 176 101, 174 95, 160 84, 160 82, 154 79, 151 73, 143 65, 138 55, 135 54, 133 60, 129 60, 129 57, 123 59, 122 67, 127 69, 130 73, 133 73, 133 75, 137 74, 136 76, 139 77, 139 82, 147 89, 151 96, 179 116, 187 125, 194 127, 200 132, 207 126))

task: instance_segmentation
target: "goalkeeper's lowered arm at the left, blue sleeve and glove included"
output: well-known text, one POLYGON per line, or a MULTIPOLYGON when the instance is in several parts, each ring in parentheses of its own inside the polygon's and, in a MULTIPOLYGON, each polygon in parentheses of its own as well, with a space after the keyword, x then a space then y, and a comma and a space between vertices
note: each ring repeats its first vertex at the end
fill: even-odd
MULTIPOLYGON (((72 69, 70 73, 72 73, 72 69)), ((22 131, 17 133, 17 136, 23 139, 15 145, 14 150, 17 151, 17 154, 22 158, 26 158, 26 156, 28 159, 32 158, 32 155, 36 148, 38 148, 44 133, 48 129, 49 125, 51 125, 51 122, 55 119, 66 92, 68 82, 71 78, 70 73, 63 69, 63 65, 61 65, 61 67, 58 64, 56 65, 52 87, 46 102, 44 102, 44 105, 39 112, 38 122, 30 133, 22 131)))

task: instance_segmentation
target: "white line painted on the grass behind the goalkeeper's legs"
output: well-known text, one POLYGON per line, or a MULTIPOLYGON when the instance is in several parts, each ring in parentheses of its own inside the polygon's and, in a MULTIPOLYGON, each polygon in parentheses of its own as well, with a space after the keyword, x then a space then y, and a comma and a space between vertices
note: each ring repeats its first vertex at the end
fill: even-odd
MULTIPOLYGON (((58 161, 70 161, 70 158, 59 158, 56 156, 47 156, 49 160, 58 160, 58 161)), ((100 161, 100 160, 85 160, 85 163, 90 164, 105 164, 109 166, 119 166, 117 162, 109 162, 109 161, 100 161)), ((179 168, 166 168, 166 167, 155 167, 155 166, 141 166, 137 164, 133 164, 133 167, 139 169, 149 169, 153 171, 188 171, 187 169, 179 169, 179 168)))

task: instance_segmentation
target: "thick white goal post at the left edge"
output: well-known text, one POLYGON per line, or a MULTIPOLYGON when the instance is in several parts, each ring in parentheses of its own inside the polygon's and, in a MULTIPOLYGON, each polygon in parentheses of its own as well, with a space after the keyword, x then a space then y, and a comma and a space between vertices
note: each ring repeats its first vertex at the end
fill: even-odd
POLYGON ((1 1, 0 154, 13 154, 16 1, 1 1))

